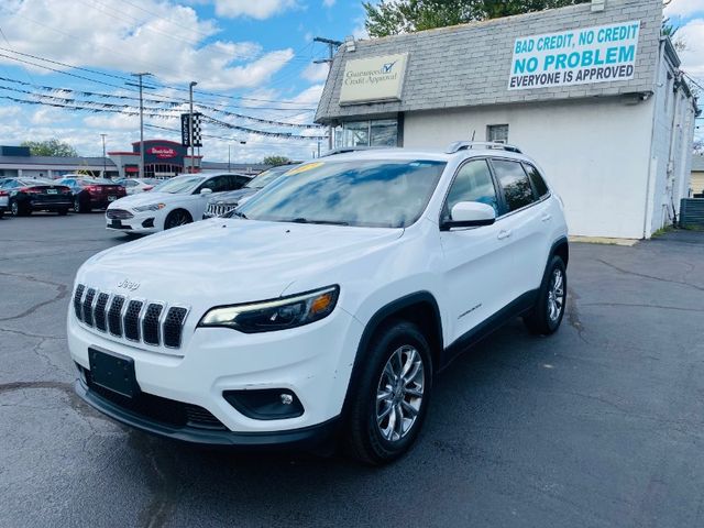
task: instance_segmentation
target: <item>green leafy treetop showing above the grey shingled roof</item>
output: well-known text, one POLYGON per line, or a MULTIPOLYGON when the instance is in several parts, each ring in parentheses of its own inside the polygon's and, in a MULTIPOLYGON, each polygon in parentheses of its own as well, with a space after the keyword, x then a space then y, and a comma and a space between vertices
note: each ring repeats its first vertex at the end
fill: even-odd
POLYGON ((382 0, 378 6, 362 2, 364 25, 371 36, 464 24, 479 20, 529 13, 543 9, 585 3, 590 0, 382 0))

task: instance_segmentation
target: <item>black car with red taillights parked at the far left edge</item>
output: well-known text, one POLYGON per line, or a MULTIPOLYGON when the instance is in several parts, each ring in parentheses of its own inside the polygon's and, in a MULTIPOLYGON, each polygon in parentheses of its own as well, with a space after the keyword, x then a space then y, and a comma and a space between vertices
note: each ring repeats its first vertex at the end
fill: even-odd
POLYGON ((53 211, 66 215, 72 205, 70 189, 46 179, 10 178, 2 184, 8 195, 8 208, 13 217, 32 211, 53 211))

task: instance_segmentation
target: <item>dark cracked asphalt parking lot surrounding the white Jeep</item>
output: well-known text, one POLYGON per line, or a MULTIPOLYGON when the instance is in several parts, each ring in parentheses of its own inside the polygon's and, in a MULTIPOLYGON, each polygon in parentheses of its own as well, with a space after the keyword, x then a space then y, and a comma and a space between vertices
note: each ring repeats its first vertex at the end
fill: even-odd
POLYGON ((704 526, 704 232, 573 244, 550 338, 515 321, 435 386, 397 463, 235 454, 73 393, 65 319, 102 213, 0 220, 1 527, 704 526))

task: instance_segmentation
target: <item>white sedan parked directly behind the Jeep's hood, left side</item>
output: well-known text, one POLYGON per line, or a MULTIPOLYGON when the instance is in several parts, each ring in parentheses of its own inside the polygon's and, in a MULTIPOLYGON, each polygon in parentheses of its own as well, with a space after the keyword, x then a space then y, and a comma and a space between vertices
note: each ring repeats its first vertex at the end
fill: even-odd
POLYGON ((106 211, 107 229, 123 233, 155 233, 200 220, 208 198, 237 190, 251 179, 231 173, 201 173, 168 179, 148 193, 125 196, 106 211))

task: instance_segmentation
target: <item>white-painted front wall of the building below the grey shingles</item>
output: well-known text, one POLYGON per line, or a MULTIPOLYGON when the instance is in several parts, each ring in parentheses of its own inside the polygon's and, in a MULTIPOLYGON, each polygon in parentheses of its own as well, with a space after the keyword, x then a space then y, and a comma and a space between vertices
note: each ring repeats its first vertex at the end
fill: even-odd
POLYGON ((538 162, 564 200, 570 234, 641 239, 652 118, 652 99, 622 98, 409 112, 404 146, 441 148, 473 132, 485 141, 487 125, 508 123, 509 143, 538 162))

